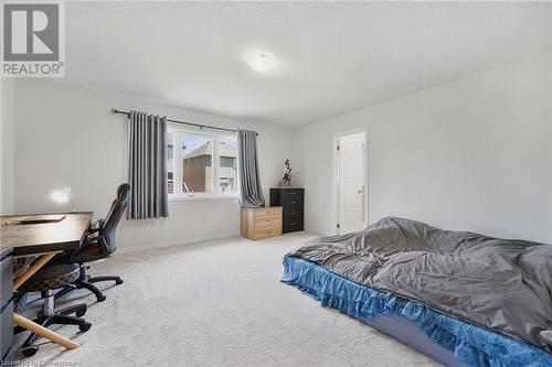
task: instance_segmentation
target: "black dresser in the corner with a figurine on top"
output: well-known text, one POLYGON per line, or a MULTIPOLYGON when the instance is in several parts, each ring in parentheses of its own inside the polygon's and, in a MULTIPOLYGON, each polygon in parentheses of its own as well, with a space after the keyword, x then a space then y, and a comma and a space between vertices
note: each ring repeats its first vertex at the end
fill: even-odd
POLYGON ((282 206, 282 233, 304 230, 305 188, 270 188, 270 206, 282 206))

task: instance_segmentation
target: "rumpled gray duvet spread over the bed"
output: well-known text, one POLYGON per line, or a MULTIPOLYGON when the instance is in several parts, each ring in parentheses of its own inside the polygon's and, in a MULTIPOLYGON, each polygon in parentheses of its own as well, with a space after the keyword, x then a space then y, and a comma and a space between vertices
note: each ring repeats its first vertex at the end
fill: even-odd
POLYGON ((358 283, 538 346, 552 330, 552 246, 384 218, 294 253, 358 283))

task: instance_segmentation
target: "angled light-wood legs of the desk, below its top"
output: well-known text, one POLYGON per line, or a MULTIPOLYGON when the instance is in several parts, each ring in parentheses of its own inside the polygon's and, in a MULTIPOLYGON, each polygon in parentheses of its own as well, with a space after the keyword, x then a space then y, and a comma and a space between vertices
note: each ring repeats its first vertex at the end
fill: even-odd
MULTIPOLYGON (((45 253, 40 256, 32 265, 26 269, 21 276, 19 276, 14 281, 13 281, 13 289, 17 290, 21 284, 23 284, 29 278, 31 278, 36 271, 39 271, 40 268, 42 268, 50 259, 52 259, 55 256, 56 252, 53 253, 45 253)), ((47 330, 46 327, 43 327, 34 322, 32 322, 29 319, 25 319, 21 315, 18 315, 17 313, 13 313, 13 322, 15 325, 21 326, 30 332, 36 333, 38 335, 45 337, 46 339, 54 342, 55 344, 59 344, 61 346, 64 346, 67 349, 76 349, 78 348, 78 344, 61 336, 57 333, 52 332, 51 330, 47 330)))

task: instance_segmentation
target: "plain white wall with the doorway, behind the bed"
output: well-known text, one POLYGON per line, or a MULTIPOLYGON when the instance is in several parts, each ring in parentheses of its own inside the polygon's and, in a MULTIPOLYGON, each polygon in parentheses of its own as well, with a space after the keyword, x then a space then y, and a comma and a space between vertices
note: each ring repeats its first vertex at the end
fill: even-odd
POLYGON ((335 230, 333 134, 369 127, 370 223, 400 216, 552 242, 550 62, 526 60, 299 129, 307 230, 335 230))

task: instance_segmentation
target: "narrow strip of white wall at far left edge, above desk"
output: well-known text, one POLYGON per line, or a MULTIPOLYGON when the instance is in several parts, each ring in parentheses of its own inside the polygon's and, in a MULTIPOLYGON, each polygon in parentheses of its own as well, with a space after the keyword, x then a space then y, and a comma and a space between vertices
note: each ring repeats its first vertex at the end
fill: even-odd
POLYGON ((0 214, 12 214, 15 209, 14 202, 14 132, 15 121, 13 111, 13 79, 0 78, 0 214))

